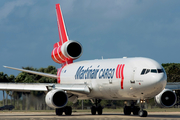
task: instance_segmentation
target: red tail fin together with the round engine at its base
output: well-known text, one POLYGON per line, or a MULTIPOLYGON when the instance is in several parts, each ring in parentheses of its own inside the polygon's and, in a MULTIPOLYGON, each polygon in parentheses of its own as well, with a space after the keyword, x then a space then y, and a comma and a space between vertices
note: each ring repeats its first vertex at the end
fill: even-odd
POLYGON ((60 4, 56 4, 57 24, 59 31, 59 42, 54 44, 53 51, 51 52, 51 58, 54 62, 65 66, 73 63, 73 60, 79 58, 82 55, 82 46, 80 43, 69 40, 66 27, 64 24, 60 4))

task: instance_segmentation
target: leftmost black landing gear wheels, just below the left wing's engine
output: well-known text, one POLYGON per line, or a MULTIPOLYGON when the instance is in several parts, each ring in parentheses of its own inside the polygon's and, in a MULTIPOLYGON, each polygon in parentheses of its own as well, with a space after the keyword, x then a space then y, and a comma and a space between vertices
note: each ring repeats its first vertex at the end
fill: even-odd
POLYGON ((65 106, 63 108, 56 108, 56 115, 62 115, 63 112, 65 115, 71 115, 72 114, 72 107, 70 106, 65 106))

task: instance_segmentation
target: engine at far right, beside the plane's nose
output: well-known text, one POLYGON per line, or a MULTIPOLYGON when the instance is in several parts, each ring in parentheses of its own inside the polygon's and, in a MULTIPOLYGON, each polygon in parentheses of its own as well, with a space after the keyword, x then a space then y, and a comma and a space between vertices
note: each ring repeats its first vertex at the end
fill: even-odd
POLYGON ((176 94, 170 89, 164 89, 154 97, 155 102, 161 107, 172 107, 177 100, 176 94))

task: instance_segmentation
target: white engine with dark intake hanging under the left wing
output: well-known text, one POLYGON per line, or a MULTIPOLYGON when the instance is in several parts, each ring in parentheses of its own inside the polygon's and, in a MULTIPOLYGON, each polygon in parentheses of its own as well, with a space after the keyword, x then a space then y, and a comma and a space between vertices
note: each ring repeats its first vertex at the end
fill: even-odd
POLYGON ((63 90, 55 89, 46 94, 46 104, 51 108, 62 108, 68 102, 68 97, 63 90))

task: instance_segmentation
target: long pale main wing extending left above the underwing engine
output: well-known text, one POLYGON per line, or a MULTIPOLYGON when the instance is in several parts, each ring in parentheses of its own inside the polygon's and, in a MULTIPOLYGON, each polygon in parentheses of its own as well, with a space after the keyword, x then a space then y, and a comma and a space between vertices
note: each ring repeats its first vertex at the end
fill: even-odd
POLYGON ((53 83, 0 83, 0 90, 5 91, 44 91, 48 92, 52 89, 61 89, 73 94, 89 94, 90 89, 84 84, 53 84, 53 83))

